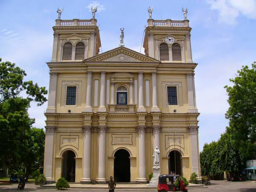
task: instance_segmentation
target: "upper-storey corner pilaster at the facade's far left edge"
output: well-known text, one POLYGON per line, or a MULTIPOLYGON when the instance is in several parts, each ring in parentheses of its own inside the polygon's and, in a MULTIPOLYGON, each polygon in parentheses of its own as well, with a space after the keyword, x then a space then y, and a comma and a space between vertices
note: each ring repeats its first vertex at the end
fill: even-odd
POLYGON ((48 106, 46 113, 55 113, 55 101, 56 101, 56 89, 57 89, 57 78, 58 73, 49 73, 49 96, 48 96, 48 106))

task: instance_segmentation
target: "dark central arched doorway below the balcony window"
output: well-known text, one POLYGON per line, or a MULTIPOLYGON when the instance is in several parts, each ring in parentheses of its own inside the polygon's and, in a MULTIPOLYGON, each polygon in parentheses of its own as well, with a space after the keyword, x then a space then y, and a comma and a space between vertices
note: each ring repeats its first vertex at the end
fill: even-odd
POLYGON ((131 182, 129 152, 125 149, 119 149, 114 157, 114 180, 116 182, 131 182))

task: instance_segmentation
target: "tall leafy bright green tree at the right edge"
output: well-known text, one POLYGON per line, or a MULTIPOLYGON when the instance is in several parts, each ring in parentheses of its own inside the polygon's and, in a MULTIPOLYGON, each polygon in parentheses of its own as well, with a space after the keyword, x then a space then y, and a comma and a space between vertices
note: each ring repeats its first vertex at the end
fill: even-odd
POLYGON ((244 160, 256 157, 256 62, 251 66, 242 66, 238 75, 230 79, 233 86, 225 86, 230 105, 227 132, 244 160))

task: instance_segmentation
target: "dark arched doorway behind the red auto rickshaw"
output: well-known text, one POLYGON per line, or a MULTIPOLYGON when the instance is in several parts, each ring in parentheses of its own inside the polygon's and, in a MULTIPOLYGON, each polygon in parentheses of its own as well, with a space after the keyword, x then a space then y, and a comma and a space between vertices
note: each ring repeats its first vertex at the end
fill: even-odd
POLYGON ((182 175, 180 151, 174 150, 169 153, 169 174, 171 171, 182 175))

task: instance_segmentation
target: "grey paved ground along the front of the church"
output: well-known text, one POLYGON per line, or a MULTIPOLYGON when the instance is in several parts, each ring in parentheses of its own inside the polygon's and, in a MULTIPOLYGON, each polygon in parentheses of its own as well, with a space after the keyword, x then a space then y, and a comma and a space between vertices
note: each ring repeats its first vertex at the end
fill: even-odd
MULTIPOLYGON (((27 183, 24 191, 27 192, 56 192, 55 189, 37 189, 32 183, 27 183)), ((17 190, 17 184, 0 185, 0 191, 13 192, 17 190)), ((73 192, 108 192, 106 189, 70 189, 73 192)), ((157 189, 116 189, 115 192, 157 192, 157 189)), ((229 182, 229 181, 212 181, 208 188, 189 188, 189 192, 256 192, 256 183, 248 182, 229 182)))

